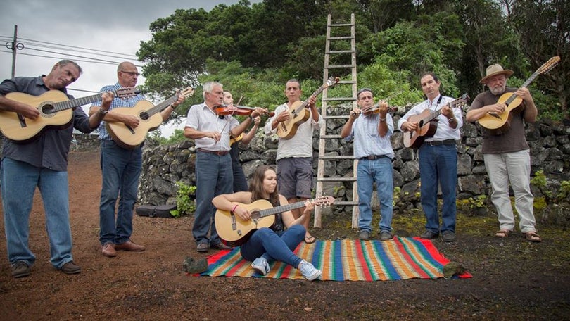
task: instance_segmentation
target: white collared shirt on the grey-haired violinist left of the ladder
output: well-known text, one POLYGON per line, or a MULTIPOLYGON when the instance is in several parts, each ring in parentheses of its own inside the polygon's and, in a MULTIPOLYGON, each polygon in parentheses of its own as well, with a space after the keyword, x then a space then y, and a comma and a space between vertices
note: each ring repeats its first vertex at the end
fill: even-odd
POLYGON ((221 134, 220 141, 215 141, 210 137, 197 138, 196 149, 229 151, 229 131, 239 125, 239 122, 234 120, 231 115, 220 118, 204 102, 190 107, 184 126, 200 132, 219 132, 221 134))

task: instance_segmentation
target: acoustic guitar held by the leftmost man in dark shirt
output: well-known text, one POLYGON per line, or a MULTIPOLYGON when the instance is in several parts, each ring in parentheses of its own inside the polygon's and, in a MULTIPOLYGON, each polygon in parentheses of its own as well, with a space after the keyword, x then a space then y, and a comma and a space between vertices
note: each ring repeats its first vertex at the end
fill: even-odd
MULTIPOLYGON (((137 95, 139 92, 132 87, 125 87, 113 91, 113 94, 115 97, 125 98, 137 95)), ((32 141, 49 128, 69 127, 73 121, 72 108, 101 101, 103 100, 101 95, 102 93, 70 100, 59 90, 50 90, 39 96, 11 92, 6 94, 7 99, 35 106, 39 111, 39 116, 36 119, 30 119, 13 111, 0 111, 0 131, 13 141, 20 143, 32 141)))

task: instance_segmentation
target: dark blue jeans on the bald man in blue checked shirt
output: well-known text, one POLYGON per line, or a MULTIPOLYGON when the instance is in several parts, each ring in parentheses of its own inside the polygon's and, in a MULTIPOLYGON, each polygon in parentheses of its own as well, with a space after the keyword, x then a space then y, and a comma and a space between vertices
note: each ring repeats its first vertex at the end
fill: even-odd
POLYGON ((99 241, 121 244, 132 234, 132 212, 137 202, 142 149, 123 149, 115 141, 101 141, 101 203, 99 241), (119 199, 115 220, 115 204, 119 199))

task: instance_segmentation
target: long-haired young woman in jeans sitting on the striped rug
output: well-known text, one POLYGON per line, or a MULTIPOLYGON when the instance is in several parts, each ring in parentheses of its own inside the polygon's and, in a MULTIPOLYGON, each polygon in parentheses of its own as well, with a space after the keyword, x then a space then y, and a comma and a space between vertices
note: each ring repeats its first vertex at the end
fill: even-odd
MULTIPOLYGON (((274 207, 288 204, 285 196, 277 191, 277 174, 270 166, 261 165, 255 170, 249 190, 216 196, 212 203, 217 209, 233 211, 241 220, 246 221, 251 219, 251 213, 240 207, 239 203, 249 204, 265 199, 274 207)), ((271 227, 255 230, 248 241, 240 246, 241 256, 251 261, 251 267, 260 275, 267 275, 270 263, 279 260, 300 270, 309 281, 319 278, 322 275, 320 270, 293 253, 305 237, 305 227, 301 222, 305 215, 310 215, 313 208, 310 201, 305 202, 303 215, 297 219, 290 210, 276 214, 271 227)))

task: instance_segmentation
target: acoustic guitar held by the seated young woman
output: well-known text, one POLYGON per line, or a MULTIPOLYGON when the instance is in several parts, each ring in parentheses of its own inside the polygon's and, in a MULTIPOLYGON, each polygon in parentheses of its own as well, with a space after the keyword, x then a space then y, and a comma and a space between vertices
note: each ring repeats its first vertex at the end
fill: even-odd
MULTIPOLYGON (((320 196, 311 201, 315 206, 328 206, 334 203, 332 196, 320 196)), ((240 246, 245 243, 256 229, 270 227, 275 222, 275 214, 302 208, 305 202, 296 202, 273 207, 269 201, 259 199, 250 204, 238 203, 239 207, 246 208, 251 213, 251 220, 241 220, 229 210, 216 210, 214 222, 217 234, 232 246, 240 246)))

